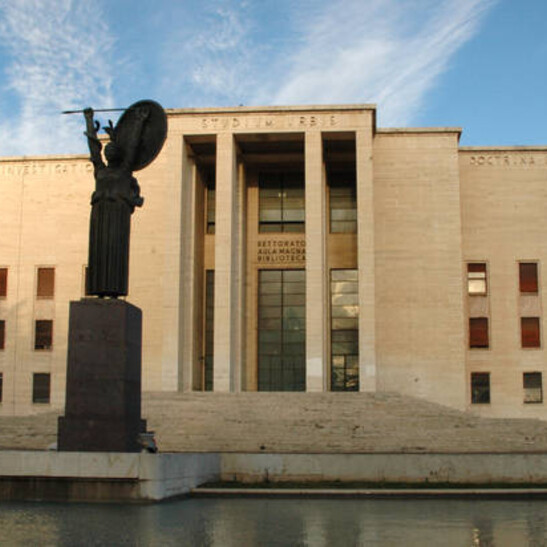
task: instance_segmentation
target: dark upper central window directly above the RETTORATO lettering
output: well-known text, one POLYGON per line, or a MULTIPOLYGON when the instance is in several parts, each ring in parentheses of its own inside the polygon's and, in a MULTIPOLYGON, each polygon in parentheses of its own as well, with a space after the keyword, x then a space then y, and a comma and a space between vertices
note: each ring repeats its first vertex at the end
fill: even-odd
POLYGON ((304 177, 301 173, 261 173, 259 232, 303 232, 304 177))

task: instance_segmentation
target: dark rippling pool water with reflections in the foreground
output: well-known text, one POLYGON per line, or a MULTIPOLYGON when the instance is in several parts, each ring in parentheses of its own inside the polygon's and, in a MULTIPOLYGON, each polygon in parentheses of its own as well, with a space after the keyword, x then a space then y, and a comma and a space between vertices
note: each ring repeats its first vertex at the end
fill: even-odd
POLYGON ((185 499, 155 505, 0 503, 8 545, 547 544, 547 501, 185 499))

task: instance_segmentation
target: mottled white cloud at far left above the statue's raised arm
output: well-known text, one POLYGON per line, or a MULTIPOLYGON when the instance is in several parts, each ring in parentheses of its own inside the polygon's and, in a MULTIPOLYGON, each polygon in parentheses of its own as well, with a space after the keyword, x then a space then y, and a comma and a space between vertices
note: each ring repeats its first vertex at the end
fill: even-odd
POLYGON ((113 43, 93 0, 0 0, 4 92, 18 103, 2 112, 0 155, 85 150, 81 120, 60 112, 112 103, 113 43))

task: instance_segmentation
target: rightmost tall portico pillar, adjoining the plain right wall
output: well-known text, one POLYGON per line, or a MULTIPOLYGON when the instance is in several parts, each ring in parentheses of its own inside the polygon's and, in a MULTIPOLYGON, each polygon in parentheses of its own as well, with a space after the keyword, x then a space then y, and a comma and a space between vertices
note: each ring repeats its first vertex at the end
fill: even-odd
POLYGON ((372 131, 357 131, 355 144, 359 267, 359 391, 376 391, 372 131))

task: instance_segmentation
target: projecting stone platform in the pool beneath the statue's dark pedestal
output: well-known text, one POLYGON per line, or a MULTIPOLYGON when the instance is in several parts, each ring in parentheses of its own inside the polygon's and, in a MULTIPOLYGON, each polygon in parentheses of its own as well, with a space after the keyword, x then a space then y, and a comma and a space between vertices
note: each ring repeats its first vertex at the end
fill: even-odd
POLYGON ((159 501, 218 479, 218 454, 0 452, 0 500, 159 501))

